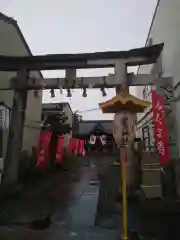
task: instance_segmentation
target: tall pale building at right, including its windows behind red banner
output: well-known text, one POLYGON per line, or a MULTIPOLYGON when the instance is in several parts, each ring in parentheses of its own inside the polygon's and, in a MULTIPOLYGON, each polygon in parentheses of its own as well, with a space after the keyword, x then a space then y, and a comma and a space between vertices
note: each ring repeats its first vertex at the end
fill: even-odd
MULTIPOLYGON (((152 74, 155 78, 172 78, 174 100, 165 100, 165 116, 169 135, 171 157, 177 158, 180 152, 180 1, 159 0, 146 40, 146 46, 164 43, 161 56, 156 64, 140 66, 138 74, 152 74)), ((151 101, 151 91, 164 95, 165 91, 158 84, 137 87, 137 96, 151 101)), ((137 116, 137 135, 144 139, 145 149, 154 149, 154 127, 152 108, 137 116)))

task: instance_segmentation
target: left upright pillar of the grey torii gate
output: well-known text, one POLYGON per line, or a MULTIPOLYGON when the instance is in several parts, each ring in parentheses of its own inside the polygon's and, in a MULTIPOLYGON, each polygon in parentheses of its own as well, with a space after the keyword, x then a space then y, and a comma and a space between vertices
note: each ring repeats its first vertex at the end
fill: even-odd
POLYGON ((29 72, 21 69, 15 81, 13 107, 11 112, 11 124, 9 138, 4 160, 3 184, 10 185, 18 181, 18 162, 21 154, 24 120, 27 102, 27 86, 29 72))

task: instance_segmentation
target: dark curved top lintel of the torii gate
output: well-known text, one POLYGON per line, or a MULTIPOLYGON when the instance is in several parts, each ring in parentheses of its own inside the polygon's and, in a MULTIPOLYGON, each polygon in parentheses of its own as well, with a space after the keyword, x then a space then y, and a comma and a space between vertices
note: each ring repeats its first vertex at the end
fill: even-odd
POLYGON ((48 54, 40 56, 0 56, 0 71, 55 70, 114 67, 116 60, 126 66, 151 64, 156 62, 163 44, 132 49, 129 51, 110 51, 81 54, 48 54))

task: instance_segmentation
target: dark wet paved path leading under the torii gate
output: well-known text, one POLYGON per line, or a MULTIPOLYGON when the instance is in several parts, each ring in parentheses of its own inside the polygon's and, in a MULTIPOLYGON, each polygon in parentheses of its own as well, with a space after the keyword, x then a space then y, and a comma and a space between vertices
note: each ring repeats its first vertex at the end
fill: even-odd
POLYGON ((93 158, 77 172, 61 171, 42 186, 27 189, 21 200, 11 203, 14 207, 3 209, 11 221, 1 226, 0 240, 118 239, 117 229, 94 226, 99 169, 108 161, 102 159, 93 158), (44 221, 36 223, 42 229, 43 222, 43 230, 32 229, 30 223, 37 219, 44 221))

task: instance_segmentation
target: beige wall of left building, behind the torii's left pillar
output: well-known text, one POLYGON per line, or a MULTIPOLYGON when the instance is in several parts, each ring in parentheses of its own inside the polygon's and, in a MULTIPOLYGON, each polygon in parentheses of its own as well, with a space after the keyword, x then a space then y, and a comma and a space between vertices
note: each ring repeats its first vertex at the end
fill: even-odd
MULTIPOLYGON (((29 51, 22 41, 16 27, 0 19, 0 54, 7 56, 28 56, 29 51)), ((7 85, 9 79, 15 73, 0 72, 0 88, 7 85)), ((39 72, 31 72, 31 76, 40 78, 39 72)), ((0 102, 4 102, 8 107, 12 107, 13 91, 0 90, 0 102)), ((39 128, 41 121, 42 91, 38 92, 38 97, 34 96, 34 91, 28 92, 26 120, 24 126, 23 149, 31 151, 32 146, 37 145, 39 128)))

